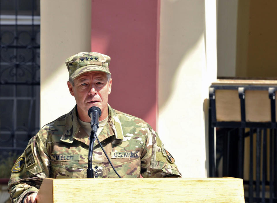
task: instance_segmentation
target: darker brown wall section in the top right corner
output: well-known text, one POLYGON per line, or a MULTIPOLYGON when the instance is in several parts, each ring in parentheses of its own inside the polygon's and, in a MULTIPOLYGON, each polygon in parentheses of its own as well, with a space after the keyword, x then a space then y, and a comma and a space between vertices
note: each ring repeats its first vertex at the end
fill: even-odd
POLYGON ((277 77, 277 1, 250 1, 247 76, 277 77))

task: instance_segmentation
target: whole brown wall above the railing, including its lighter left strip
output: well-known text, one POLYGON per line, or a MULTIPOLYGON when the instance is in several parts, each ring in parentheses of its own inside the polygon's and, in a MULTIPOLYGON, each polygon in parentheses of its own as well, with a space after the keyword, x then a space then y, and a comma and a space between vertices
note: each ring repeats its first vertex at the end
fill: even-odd
POLYGON ((237 67, 240 77, 277 77, 277 1, 239 1, 237 67))

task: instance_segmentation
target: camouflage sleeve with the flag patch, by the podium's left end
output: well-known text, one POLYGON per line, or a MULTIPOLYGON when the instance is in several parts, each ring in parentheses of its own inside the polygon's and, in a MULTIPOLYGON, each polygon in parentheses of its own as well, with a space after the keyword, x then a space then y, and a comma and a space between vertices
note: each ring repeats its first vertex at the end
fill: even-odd
POLYGON ((31 138, 23 154, 12 167, 8 192, 12 202, 22 202, 27 193, 38 192, 45 177, 49 176, 50 159, 46 151, 46 140, 41 131, 31 138))

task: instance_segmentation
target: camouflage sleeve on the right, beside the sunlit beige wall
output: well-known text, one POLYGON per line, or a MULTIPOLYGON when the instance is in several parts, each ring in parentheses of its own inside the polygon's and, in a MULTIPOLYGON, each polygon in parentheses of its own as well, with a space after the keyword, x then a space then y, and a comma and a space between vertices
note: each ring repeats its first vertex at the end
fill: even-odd
POLYGON ((164 149, 158 134, 148 126, 145 148, 141 155, 141 175, 144 178, 181 177, 175 159, 164 149))

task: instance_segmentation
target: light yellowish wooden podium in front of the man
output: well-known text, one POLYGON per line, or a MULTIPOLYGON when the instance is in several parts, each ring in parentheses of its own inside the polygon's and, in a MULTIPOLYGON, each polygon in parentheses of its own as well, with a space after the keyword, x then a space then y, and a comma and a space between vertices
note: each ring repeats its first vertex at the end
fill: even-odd
POLYGON ((45 178, 38 203, 244 202, 239 178, 45 178))

